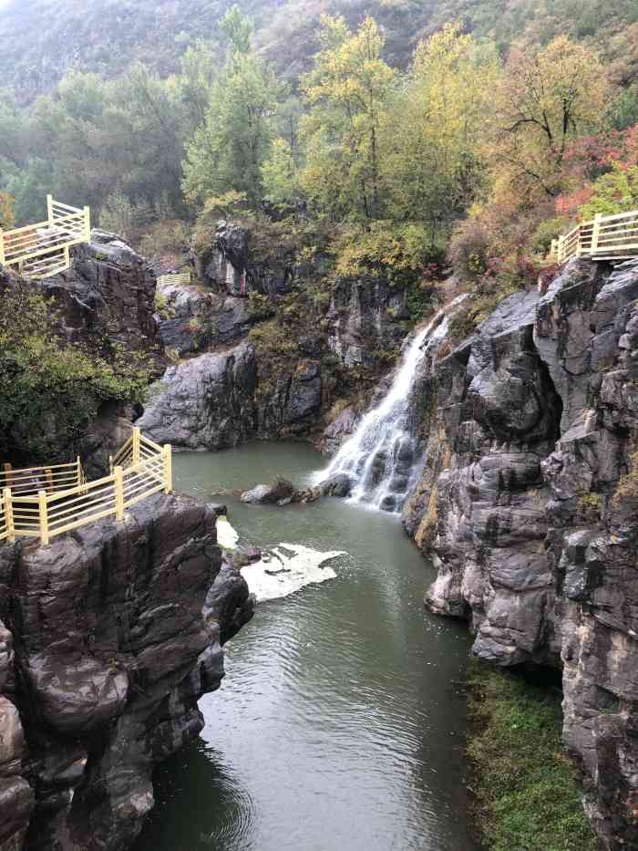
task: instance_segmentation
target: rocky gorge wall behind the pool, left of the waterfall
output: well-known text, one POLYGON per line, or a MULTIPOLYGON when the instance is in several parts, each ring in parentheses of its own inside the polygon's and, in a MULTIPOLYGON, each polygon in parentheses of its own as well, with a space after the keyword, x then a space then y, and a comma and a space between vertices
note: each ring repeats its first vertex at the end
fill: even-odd
POLYGON ((378 366, 375 353, 398 351, 409 319, 405 289, 345 278, 323 282, 314 300, 319 261, 302 263, 277 246, 264 259, 254 241, 245 227, 220 223, 192 255, 201 283, 161 288, 156 320, 176 362, 137 422, 153 440, 210 450, 252 438, 324 441, 335 404, 345 410, 338 436, 355 420, 353 398, 361 407, 371 395, 361 392, 361 370, 380 378, 387 363, 378 366), (269 329, 272 338, 269 320, 281 332, 269 329))

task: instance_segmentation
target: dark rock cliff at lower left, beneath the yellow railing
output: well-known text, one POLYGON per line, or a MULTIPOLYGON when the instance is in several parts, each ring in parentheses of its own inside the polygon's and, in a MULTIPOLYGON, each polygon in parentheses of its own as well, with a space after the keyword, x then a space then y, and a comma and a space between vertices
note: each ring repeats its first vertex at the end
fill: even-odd
POLYGON ((0 584, 0 847, 17 851, 28 826, 34 851, 126 849, 153 805, 153 763, 201 731, 221 644, 252 617, 215 514, 152 497, 123 524, 3 546, 0 584))

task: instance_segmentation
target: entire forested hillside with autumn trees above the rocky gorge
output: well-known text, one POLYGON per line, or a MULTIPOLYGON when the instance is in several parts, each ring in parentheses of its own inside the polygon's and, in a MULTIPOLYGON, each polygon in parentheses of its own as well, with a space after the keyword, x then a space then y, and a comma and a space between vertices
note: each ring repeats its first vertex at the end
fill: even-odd
POLYGON ((46 192, 150 255, 240 218, 326 285, 451 264, 472 323, 638 206, 633 0, 10 0, 0 36, 5 228, 46 192))

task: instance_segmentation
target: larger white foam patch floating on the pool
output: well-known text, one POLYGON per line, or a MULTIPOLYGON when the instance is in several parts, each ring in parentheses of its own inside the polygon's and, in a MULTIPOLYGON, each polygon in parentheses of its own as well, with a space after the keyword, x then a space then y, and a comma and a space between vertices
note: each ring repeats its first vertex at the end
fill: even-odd
POLYGON ((259 602, 288 597, 307 585, 336 578, 332 567, 323 567, 342 551, 320 553, 301 544, 280 544, 254 565, 242 567, 242 576, 259 602))

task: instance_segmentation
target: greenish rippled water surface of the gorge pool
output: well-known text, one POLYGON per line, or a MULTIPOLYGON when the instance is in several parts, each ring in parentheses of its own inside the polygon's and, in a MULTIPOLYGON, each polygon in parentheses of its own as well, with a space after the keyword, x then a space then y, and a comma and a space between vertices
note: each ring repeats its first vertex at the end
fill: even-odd
MULTIPOLYGON (((175 458, 178 486, 215 498, 322 460, 254 444, 175 458)), ((248 506, 243 540, 345 550, 336 578, 264 602, 200 702, 201 742, 157 771, 137 851, 474 851, 463 784, 467 630, 423 607, 432 571, 396 516, 324 500, 248 506)))

